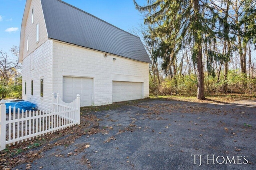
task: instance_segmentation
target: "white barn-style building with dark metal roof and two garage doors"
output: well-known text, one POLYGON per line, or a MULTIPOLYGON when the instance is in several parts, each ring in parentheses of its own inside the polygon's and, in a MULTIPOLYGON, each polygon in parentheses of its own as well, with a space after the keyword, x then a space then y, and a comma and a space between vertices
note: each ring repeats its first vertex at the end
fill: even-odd
POLYGON ((19 62, 22 98, 52 108, 64 102, 107 105, 149 95, 150 58, 137 36, 61 0, 27 0, 19 62))

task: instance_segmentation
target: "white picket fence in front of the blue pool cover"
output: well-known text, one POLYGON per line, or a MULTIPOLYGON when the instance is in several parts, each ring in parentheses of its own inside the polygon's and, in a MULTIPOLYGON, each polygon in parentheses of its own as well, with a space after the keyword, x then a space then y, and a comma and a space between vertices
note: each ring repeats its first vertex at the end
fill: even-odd
POLYGON ((6 144, 16 144, 24 140, 31 140, 37 136, 62 130, 66 127, 80 124, 80 96, 71 103, 65 103, 60 95, 52 94, 52 110, 48 111, 20 111, 11 106, 6 114, 5 101, 0 101, 0 150, 6 144), (6 119, 6 115, 8 115, 6 119))

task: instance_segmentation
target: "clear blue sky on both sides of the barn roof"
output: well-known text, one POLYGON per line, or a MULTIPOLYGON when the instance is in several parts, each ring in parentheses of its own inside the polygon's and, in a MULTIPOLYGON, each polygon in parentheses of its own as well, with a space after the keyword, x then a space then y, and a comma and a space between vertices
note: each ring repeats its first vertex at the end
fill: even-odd
MULTIPOLYGON (((143 17, 132 0, 63 0, 122 30, 138 27, 143 17)), ((143 5, 146 0, 137 0, 143 5)), ((12 45, 20 45, 20 26, 26 0, 0 0, 0 50, 10 53, 12 45)))

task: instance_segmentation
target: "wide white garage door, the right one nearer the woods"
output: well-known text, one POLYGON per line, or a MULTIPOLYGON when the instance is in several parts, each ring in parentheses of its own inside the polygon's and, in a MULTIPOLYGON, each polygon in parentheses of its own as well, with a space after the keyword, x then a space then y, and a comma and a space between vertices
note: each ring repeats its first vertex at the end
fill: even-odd
POLYGON ((113 102, 142 99, 142 86, 140 82, 113 81, 113 102))

